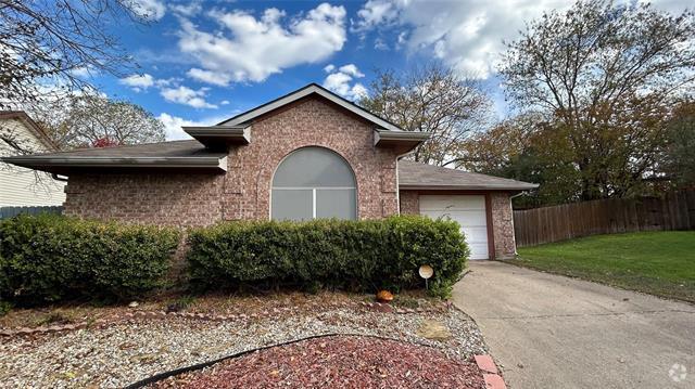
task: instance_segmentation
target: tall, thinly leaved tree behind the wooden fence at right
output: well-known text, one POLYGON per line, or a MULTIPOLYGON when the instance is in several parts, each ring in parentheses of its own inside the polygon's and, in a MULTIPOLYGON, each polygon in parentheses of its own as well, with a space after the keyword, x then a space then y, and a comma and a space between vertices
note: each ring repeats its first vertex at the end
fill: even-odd
POLYGON ((579 1, 530 23, 500 73, 519 111, 551 118, 581 199, 630 196, 654 181, 670 106, 695 86, 694 38, 690 11, 579 1))

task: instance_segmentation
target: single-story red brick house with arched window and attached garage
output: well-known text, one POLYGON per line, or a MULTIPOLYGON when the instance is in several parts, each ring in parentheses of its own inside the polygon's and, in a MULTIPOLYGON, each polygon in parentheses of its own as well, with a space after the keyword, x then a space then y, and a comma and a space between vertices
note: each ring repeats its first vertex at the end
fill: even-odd
POLYGON ((194 140, 4 160, 67 176, 65 215, 172 225, 448 216, 475 259, 515 254, 510 196, 536 186, 403 160, 428 133, 314 83, 184 130, 194 140))

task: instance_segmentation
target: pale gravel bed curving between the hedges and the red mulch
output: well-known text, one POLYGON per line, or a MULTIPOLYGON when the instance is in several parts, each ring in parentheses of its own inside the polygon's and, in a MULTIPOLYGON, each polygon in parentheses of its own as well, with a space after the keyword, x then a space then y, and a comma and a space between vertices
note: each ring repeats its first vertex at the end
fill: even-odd
POLYGON ((328 307, 225 322, 167 316, 2 339, 0 387, 123 387, 177 367, 323 334, 380 335, 432 346, 458 361, 486 352, 475 322, 455 309, 395 314, 328 307), (441 328, 422 328, 432 322, 441 328))

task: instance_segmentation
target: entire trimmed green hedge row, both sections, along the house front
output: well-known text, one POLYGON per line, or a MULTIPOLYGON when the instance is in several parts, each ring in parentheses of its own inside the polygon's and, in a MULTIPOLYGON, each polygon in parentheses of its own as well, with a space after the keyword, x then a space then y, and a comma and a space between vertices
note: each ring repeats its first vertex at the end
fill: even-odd
MULTIPOLYGON (((0 302, 124 300, 164 286, 180 234, 56 215, 0 220, 0 302)), ((199 289, 294 286, 374 293, 418 288, 447 297, 468 258, 453 221, 228 222, 189 231, 188 274, 199 289)))

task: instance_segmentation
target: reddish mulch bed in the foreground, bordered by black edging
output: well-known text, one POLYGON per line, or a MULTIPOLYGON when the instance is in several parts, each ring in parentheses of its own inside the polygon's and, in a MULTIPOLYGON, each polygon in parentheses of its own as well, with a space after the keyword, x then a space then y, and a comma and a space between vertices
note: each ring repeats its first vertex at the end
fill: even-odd
POLYGON ((361 336, 303 340, 169 377, 152 388, 484 389, 471 362, 425 346, 361 336))

